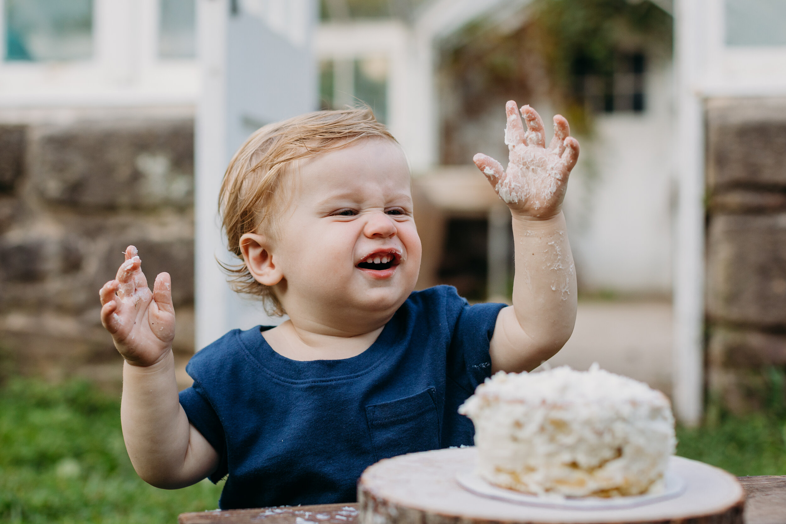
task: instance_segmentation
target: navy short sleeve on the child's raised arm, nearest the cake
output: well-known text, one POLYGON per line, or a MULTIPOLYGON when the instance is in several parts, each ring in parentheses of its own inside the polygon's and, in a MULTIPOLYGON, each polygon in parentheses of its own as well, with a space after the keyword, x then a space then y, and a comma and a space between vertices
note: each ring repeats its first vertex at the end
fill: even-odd
POLYGON ((459 310, 450 339, 447 374, 468 394, 472 394, 491 375, 491 337, 494 336, 499 312, 507 304, 483 303, 471 306, 458 296, 454 288, 450 289, 454 296, 446 297, 448 309, 452 309, 450 302, 453 302, 454 307, 459 306, 459 310), (461 302, 457 304, 456 299, 461 302))

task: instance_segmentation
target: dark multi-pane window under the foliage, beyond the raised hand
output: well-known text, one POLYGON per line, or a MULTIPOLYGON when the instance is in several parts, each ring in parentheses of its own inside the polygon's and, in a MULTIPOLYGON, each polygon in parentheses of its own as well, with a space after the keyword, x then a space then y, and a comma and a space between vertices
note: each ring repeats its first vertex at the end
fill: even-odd
POLYGON ((597 71, 589 60, 574 64, 578 100, 592 112, 644 112, 645 56, 619 53, 612 71, 597 71))

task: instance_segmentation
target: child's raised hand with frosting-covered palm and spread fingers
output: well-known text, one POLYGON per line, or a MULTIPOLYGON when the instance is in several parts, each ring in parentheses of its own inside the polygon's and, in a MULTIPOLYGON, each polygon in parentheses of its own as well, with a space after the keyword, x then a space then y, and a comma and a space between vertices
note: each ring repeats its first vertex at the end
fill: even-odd
POLYGON ((494 190, 514 214, 551 218, 560 213, 567 177, 578 159, 578 141, 563 116, 554 117, 554 137, 545 147, 543 121, 528 105, 521 108, 527 123, 525 132, 515 101, 505 105, 508 126, 505 144, 510 151, 508 170, 497 160, 478 153, 475 165, 487 176, 494 190))

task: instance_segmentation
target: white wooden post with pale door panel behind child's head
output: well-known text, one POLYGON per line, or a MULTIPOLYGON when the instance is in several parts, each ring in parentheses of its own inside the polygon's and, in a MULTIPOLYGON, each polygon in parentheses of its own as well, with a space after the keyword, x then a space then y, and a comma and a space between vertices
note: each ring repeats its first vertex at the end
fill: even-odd
POLYGON ((237 261, 219 226, 219 188, 231 156, 249 134, 317 108, 310 38, 315 18, 314 0, 197 2, 202 82, 195 147, 197 349, 230 329, 281 321, 226 284, 216 259, 237 261))

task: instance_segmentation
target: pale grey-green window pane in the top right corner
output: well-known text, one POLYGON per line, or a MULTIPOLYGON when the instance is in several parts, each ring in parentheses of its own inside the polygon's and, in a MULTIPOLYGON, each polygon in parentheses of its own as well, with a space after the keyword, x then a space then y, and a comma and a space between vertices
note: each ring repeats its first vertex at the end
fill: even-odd
POLYGON ((786 0, 725 0, 726 44, 786 46, 786 0))

